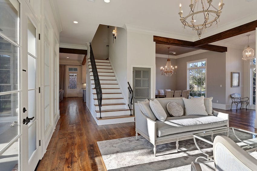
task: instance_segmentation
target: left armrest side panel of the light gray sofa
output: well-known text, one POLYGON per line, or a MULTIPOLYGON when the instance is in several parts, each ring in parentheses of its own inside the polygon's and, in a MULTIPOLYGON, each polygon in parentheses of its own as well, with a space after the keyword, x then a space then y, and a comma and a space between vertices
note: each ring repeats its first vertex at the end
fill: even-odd
POLYGON ((146 117, 137 103, 135 103, 135 125, 136 132, 148 139, 152 144, 155 144, 157 138, 156 122, 146 117))

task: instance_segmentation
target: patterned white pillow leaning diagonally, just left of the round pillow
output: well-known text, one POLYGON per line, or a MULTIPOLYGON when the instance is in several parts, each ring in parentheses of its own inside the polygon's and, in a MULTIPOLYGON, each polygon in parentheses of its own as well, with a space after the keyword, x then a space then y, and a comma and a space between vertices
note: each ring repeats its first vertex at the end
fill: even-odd
POLYGON ((159 120, 164 122, 165 119, 167 118, 167 114, 164 111, 164 109, 162 108, 160 102, 156 99, 154 99, 153 101, 150 100, 150 108, 153 111, 153 113, 155 114, 155 117, 159 120))

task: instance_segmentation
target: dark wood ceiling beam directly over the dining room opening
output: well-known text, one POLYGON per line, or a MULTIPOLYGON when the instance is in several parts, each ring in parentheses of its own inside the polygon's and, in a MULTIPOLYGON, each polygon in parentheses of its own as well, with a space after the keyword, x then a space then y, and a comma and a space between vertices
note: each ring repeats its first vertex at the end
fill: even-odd
POLYGON ((203 50, 210 50, 215 52, 226 52, 227 47, 223 46, 216 46, 211 44, 206 44, 200 47, 194 47, 194 42, 186 41, 186 40, 179 40, 179 39, 172 39, 167 37, 160 37, 154 36, 154 41, 157 44, 166 44, 172 46, 180 46, 180 47, 190 47, 195 49, 203 49, 203 50))

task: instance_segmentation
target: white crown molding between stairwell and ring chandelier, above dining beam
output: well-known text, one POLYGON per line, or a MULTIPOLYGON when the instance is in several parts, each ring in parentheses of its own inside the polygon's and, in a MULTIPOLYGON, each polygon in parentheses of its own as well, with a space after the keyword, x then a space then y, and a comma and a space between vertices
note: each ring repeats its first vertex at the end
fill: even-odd
POLYGON ((155 29, 150 29, 145 27, 138 27, 138 26, 129 25, 129 24, 125 24, 125 29, 127 30, 127 32, 150 34, 150 35, 155 35, 160 37, 172 37, 174 39, 187 40, 187 41, 194 40, 194 37, 190 35, 155 30, 155 29))

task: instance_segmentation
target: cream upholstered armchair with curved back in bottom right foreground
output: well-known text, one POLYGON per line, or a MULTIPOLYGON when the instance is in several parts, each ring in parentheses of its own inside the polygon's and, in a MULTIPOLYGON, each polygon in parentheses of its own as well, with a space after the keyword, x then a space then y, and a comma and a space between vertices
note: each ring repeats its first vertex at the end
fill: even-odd
MULTIPOLYGON (((216 171, 256 170, 257 160, 226 136, 213 141, 213 158, 216 171)), ((202 171, 201 164, 191 163, 191 171, 202 171)))

